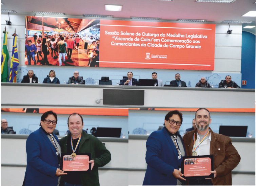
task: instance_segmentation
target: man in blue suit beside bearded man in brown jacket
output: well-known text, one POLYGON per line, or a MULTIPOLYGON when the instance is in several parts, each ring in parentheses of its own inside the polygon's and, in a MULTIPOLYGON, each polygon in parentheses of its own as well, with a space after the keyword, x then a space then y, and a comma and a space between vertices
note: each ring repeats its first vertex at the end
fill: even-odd
POLYGON ((164 119, 165 127, 147 138, 147 169, 143 185, 180 185, 180 180, 185 181, 180 171, 185 147, 177 133, 181 124, 182 113, 170 111, 164 119))

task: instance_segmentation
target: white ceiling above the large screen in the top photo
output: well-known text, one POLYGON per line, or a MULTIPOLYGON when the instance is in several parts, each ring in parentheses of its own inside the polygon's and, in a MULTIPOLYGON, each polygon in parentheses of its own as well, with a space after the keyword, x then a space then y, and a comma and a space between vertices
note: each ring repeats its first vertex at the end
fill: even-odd
MULTIPOLYGON (((253 25, 255 25, 255 17, 241 17, 248 11, 256 10, 255 1, 199 3, 195 0, 1 0, 3 3, 1 8, 27 15, 33 15, 32 11, 50 11, 62 12, 67 17, 76 18, 83 18, 82 14, 97 14, 111 15, 114 19, 124 20, 136 16, 160 18, 159 21, 177 19, 207 19, 207 23, 221 23, 224 20, 254 21, 253 25), (122 5, 122 11, 106 11, 105 4, 122 5)), ((249 31, 255 34, 255 28, 249 31)))

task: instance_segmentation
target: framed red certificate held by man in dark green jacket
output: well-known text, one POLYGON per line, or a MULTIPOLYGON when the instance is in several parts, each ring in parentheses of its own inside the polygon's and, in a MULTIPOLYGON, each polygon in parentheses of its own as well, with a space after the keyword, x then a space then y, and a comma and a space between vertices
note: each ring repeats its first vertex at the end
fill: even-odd
POLYGON ((92 159, 91 153, 61 153, 60 169, 64 172, 91 172, 92 163, 88 163, 92 159))

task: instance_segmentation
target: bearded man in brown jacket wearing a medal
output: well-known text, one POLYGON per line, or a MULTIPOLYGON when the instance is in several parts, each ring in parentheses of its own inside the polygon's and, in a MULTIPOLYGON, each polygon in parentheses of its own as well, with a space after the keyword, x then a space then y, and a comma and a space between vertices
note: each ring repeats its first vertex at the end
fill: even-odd
POLYGON ((240 162, 240 156, 228 136, 214 133, 207 109, 198 109, 195 114, 197 129, 183 137, 187 156, 214 156, 213 179, 191 179, 189 185, 232 185, 231 171, 240 162), (195 145, 194 145, 195 135, 195 145))

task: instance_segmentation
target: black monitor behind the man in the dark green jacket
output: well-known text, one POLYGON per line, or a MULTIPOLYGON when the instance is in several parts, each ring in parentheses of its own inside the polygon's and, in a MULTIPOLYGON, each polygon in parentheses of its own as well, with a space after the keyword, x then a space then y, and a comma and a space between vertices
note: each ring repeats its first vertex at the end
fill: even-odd
POLYGON ((122 128, 114 127, 97 127, 96 137, 120 138, 122 128))

